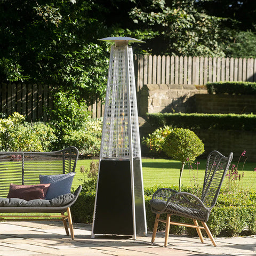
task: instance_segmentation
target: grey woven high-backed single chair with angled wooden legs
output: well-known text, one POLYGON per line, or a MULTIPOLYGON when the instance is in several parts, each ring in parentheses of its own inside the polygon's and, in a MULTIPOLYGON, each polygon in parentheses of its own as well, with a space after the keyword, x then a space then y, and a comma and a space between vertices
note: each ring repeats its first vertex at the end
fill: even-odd
POLYGON ((158 222, 161 221, 166 223, 165 247, 167 246, 170 225, 196 228, 202 243, 204 242, 204 239, 201 229, 204 229, 210 237, 212 244, 217 246, 211 231, 205 222, 208 221, 211 210, 217 201, 223 179, 225 178, 232 159, 233 153, 230 153, 228 157, 223 156, 218 151, 212 151, 209 154, 206 161, 206 171, 201 198, 187 192, 177 192, 169 188, 158 189, 154 193, 150 200, 151 211, 156 213, 156 220, 151 239, 152 243, 155 241, 158 222), (166 220, 159 219, 162 213, 167 213, 166 220), (171 215, 192 219, 194 225, 171 221, 171 215), (197 221, 201 221, 203 226, 199 226, 197 221))

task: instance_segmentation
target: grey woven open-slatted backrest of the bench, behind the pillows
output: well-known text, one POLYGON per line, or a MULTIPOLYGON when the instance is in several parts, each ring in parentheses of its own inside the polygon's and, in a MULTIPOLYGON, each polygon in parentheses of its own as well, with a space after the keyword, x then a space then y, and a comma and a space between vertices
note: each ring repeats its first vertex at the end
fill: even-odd
POLYGON ((0 197, 6 197, 10 183, 39 184, 39 174, 74 172, 78 150, 69 147, 54 152, 0 152, 0 197))

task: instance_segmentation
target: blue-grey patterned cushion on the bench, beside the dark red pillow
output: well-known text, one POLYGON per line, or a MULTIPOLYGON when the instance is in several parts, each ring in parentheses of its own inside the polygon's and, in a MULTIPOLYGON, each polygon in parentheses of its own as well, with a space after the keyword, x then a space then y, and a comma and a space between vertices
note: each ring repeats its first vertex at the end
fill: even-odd
POLYGON ((40 183, 51 183, 46 193, 46 200, 69 194, 75 172, 57 175, 39 175, 40 183), (47 182, 45 182, 47 180, 47 182))

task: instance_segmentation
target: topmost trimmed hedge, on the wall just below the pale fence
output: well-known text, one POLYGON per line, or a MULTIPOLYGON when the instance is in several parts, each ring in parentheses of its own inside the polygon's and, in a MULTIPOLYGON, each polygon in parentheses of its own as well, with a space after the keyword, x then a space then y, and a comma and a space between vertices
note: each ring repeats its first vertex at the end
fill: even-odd
POLYGON ((206 84, 210 94, 256 94, 255 82, 215 82, 206 84))

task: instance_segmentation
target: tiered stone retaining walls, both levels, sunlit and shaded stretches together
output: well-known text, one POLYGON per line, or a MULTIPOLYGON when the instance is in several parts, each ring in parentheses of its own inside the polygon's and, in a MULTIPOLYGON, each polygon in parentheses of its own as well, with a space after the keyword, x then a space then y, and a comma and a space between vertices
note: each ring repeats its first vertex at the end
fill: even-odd
MULTIPOLYGON (((254 95, 210 95, 206 90, 198 90, 194 85, 147 84, 140 94, 140 116, 146 113, 256 113, 254 95)), ((143 122, 142 122, 143 123, 143 122)), ((256 124, 255 124, 256 125, 256 124)), ((144 123, 140 127, 141 136, 155 129, 144 123)), ((218 150, 228 156, 234 153, 234 162, 245 150, 248 162, 256 162, 256 133, 250 131, 196 130, 195 133, 204 142, 206 157, 212 150, 218 150)), ((142 155, 147 149, 142 145, 142 155)))

